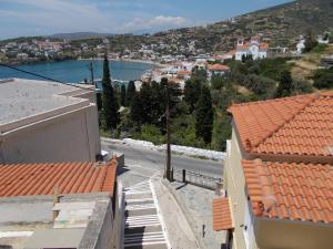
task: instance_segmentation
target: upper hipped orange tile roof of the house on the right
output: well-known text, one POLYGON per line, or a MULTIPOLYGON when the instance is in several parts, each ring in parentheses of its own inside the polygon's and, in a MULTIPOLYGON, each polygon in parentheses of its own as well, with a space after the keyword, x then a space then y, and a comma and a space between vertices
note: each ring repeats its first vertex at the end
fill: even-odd
POLYGON ((232 105, 248 153, 333 156, 333 91, 232 105))

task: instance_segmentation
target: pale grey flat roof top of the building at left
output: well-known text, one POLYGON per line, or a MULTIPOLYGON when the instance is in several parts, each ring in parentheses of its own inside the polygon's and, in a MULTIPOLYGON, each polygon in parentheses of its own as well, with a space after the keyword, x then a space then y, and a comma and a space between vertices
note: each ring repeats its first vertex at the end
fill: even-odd
POLYGON ((0 126, 54 110, 87 106, 89 101, 75 95, 92 89, 82 87, 49 81, 0 80, 0 126))

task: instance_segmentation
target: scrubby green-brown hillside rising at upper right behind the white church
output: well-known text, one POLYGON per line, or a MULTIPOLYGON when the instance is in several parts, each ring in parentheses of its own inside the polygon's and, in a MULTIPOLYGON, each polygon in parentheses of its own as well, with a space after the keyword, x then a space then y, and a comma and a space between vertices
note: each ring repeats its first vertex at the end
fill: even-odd
POLYGON ((325 31, 333 34, 332 0, 292 1, 235 17, 233 21, 160 32, 154 37, 195 40, 199 49, 210 52, 228 51, 234 48, 239 37, 249 38, 259 33, 271 41, 271 45, 291 46, 295 44, 295 39, 309 29, 315 34, 325 31))

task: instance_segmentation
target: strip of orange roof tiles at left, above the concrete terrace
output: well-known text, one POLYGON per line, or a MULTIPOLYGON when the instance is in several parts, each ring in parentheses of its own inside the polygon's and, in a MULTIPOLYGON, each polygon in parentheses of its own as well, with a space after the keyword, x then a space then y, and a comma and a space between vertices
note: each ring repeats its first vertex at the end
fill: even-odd
POLYGON ((0 165, 0 197, 83 194, 113 195, 117 160, 94 163, 46 163, 0 165))

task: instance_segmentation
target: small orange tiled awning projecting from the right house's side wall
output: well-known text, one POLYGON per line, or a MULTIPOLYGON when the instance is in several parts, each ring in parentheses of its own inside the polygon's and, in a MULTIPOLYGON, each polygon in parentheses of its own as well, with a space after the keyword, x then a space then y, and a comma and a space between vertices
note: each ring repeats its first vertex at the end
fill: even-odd
POLYGON ((229 198, 213 199, 213 229, 215 231, 233 229, 229 198))

